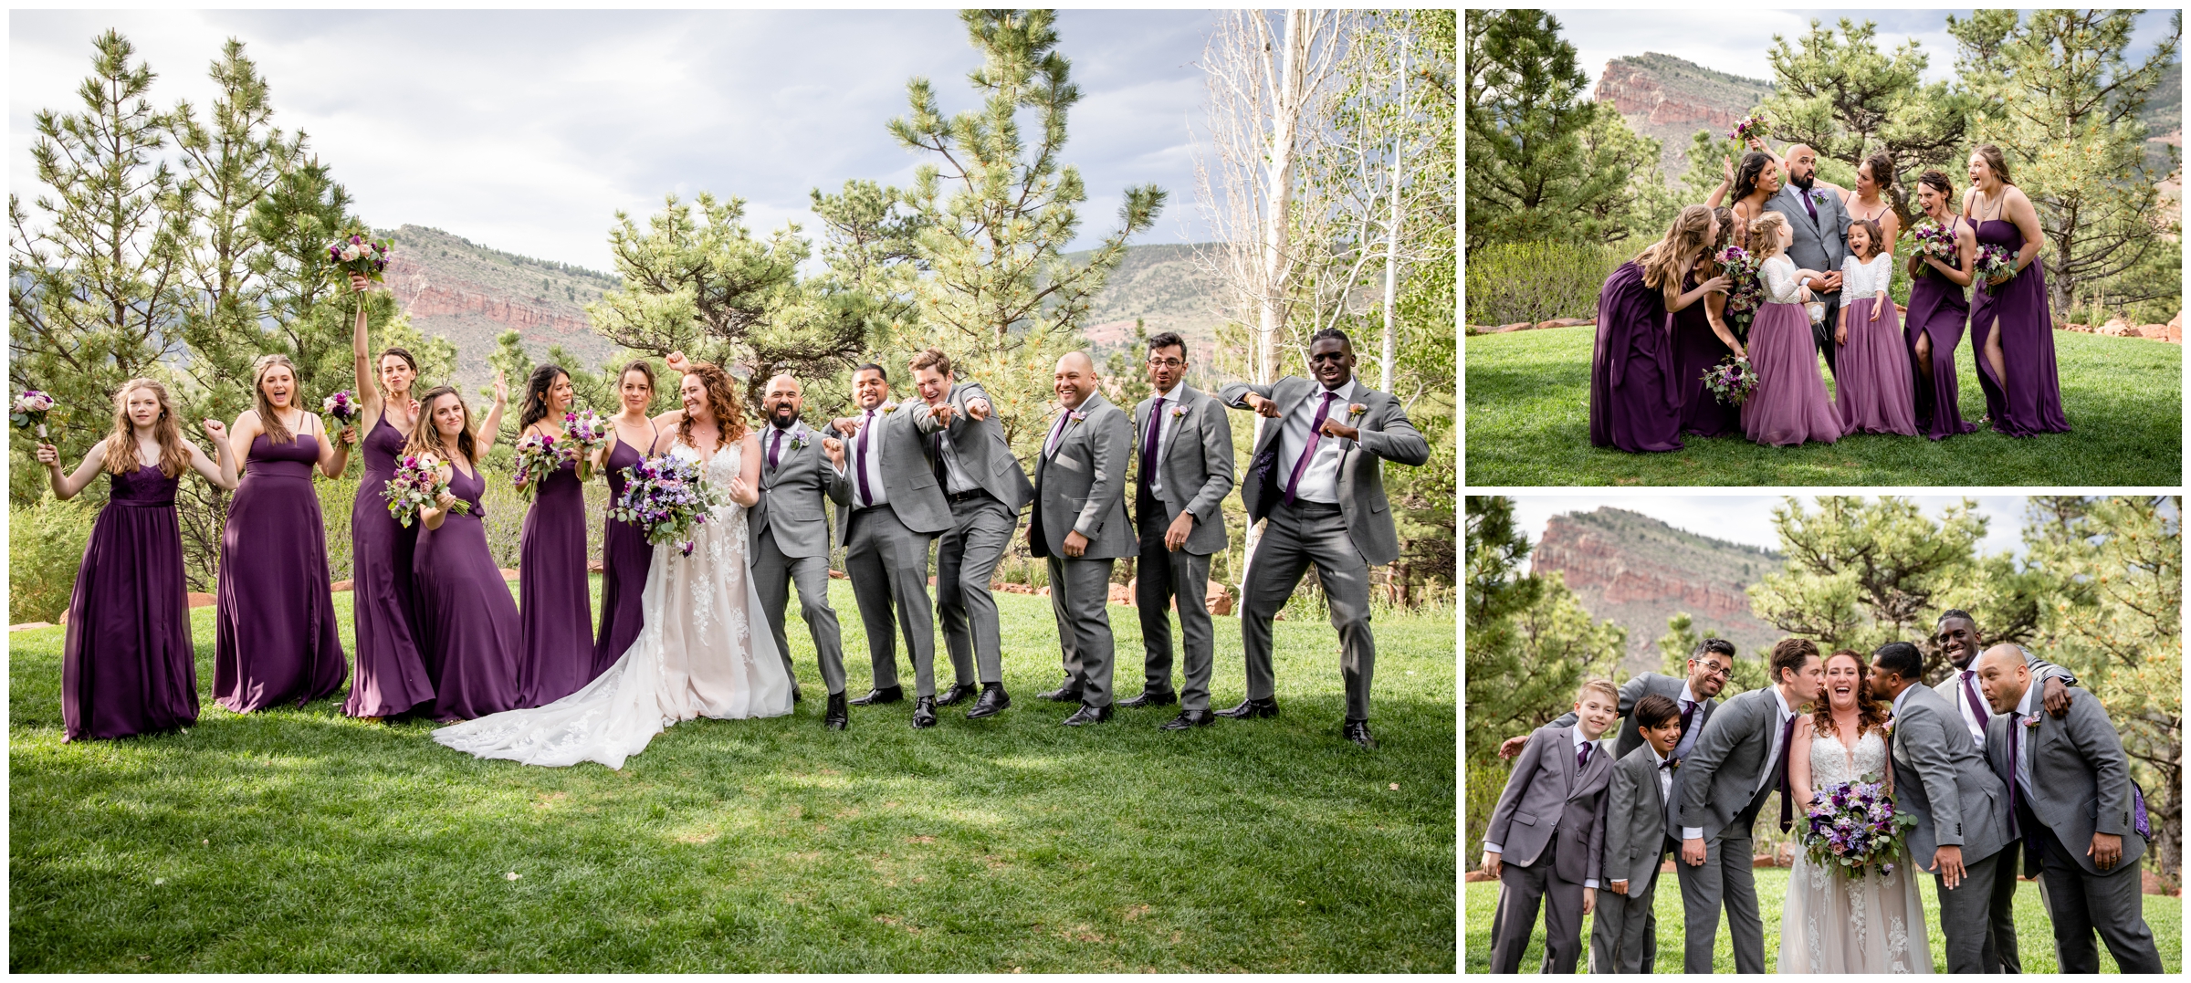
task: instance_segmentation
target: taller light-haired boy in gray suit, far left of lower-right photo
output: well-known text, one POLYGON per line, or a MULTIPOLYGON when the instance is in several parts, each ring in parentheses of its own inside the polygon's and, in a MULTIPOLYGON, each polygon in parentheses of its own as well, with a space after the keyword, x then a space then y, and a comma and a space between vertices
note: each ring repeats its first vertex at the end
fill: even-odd
POLYGON ((1597 904, 1606 849, 1610 753, 1597 738, 1613 727, 1619 690, 1591 679, 1575 692, 1573 727, 1538 727, 1499 793, 1483 832, 1483 874, 1499 878, 1492 913, 1492 972, 1521 972, 1521 952, 1545 904, 1545 963, 1575 972, 1582 920, 1597 904))

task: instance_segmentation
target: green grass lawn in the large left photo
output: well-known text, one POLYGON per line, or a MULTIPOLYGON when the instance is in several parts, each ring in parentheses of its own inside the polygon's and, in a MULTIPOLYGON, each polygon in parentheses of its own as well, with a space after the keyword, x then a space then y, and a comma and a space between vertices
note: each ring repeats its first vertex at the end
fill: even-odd
MULTIPOLYGON (((852 593, 833 602, 868 683, 852 593)), ((1378 751, 1339 738, 1332 628, 1277 624, 1275 720, 1058 727, 1049 600, 999 593, 1012 709, 929 731, 824 692, 670 727, 624 771, 482 762, 340 696, 61 742, 61 631, 9 663, 15 972, 1455 972, 1453 613, 1380 613, 1378 751), (517 876, 511 880, 511 876, 517 876)), ((348 633, 351 600, 337 595, 348 633)), ((1117 690, 1142 685, 1113 606, 1117 690)), ((1216 620, 1216 705, 1242 694, 1216 620)), ((901 657, 903 659, 903 657, 901 657)), ((944 670, 949 683, 949 670, 944 670)), ((907 679, 907 685, 911 681, 907 679)))

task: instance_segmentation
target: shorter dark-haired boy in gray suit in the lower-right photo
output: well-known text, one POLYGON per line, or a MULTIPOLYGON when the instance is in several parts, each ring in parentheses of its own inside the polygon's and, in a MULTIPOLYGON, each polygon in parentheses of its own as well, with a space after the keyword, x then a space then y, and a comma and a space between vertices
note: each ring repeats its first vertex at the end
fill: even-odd
POLYGON ((1641 744, 1613 762, 1606 790, 1606 858, 1599 865, 1606 891, 1597 895, 1597 920, 1591 922, 1591 972, 1650 972, 1648 961, 1659 950, 1650 937, 1652 891, 1659 887, 1659 860, 1674 849, 1665 819, 1674 801, 1674 766, 1680 764, 1674 758, 1680 707, 1650 694, 1628 718, 1641 744))

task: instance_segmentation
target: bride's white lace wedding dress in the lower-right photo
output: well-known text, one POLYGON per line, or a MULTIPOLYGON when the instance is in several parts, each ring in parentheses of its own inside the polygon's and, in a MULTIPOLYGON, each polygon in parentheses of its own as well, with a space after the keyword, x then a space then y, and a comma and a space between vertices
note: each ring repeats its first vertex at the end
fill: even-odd
MULTIPOLYGON (((1819 733, 1808 753, 1814 793, 1836 782, 1878 779, 1889 768, 1880 731, 1865 731, 1854 755, 1840 738, 1819 733)), ((1867 871, 1862 878, 1812 865, 1797 852, 1781 902, 1779 972, 1932 972, 1915 874, 1908 849, 1895 858, 1893 874, 1867 871)))

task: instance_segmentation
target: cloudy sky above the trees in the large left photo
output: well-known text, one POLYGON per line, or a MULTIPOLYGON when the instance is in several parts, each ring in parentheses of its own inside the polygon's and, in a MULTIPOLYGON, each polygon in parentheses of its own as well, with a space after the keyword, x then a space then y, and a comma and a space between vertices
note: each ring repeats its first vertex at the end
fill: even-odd
MULTIPOLYGON (((267 77, 276 125, 381 228, 418 223, 528 256, 609 269, 616 210, 712 190, 749 204, 756 234, 802 221, 808 188, 907 184, 927 158, 892 140, 905 83, 925 74, 944 114, 977 105, 979 57, 953 11, 11 11, 9 190, 39 109, 77 112, 92 37, 129 37, 160 81, 153 105, 213 99, 208 63, 239 37, 267 77)), ((1139 241, 1196 241, 1194 61, 1209 11, 1063 11, 1082 99, 1065 162, 1089 201, 1080 243, 1117 223, 1128 184, 1170 190, 1139 241)))

